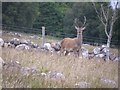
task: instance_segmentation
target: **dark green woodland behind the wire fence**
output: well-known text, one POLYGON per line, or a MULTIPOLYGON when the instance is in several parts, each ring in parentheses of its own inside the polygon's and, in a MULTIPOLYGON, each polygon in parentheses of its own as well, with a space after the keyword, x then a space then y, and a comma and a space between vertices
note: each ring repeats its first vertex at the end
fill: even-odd
MULTIPOLYGON (((104 5, 104 9, 109 5, 106 2, 96 3, 99 12, 101 4, 104 5)), ((110 16, 111 13, 112 11, 110 16)), ((120 10, 118 10, 118 16, 119 14, 120 10)), ((45 26, 47 35, 60 38, 76 37, 74 19, 79 18, 84 22, 84 16, 87 18, 87 25, 83 37, 94 37, 92 42, 106 43, 105 40, 103 41, 103 38, 107 39, 104 26, 98 19, 91 2, 4 2, 2 4, 3 24, 38 29, 45 26), (101 38, 100 41, 98 41, 99 38, 101 38)), ((118 40, 119 22, 118 19, 115 23, 112 40, 118 40)), ((27 32, 29 31, 27 29, 27 32)))

